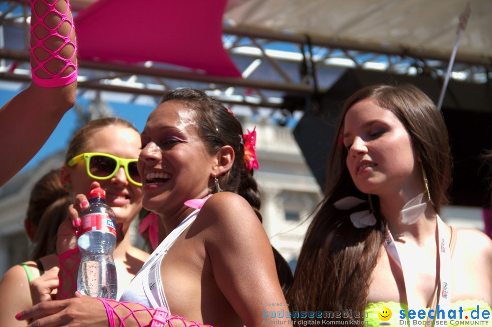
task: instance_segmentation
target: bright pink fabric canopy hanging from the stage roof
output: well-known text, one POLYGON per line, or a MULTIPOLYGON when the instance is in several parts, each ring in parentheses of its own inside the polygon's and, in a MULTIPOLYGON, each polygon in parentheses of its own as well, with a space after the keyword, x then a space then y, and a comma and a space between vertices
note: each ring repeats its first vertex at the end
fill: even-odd
POLYGON ((222 46, 226 0, 99 0, 75 17, 79 58, 148 60, 241 77, 222 46))

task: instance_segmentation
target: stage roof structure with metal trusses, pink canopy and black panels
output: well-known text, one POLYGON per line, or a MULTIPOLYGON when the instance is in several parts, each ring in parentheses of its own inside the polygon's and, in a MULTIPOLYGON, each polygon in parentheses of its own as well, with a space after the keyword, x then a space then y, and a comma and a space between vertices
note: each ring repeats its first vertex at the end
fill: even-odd
MULTIPOLYGON (((0 82, 31 81, 27 50, 30 8, 26 2, 29 1, 0 0, 0 82)), ((473 138, 473 133, 483 130, 480 123, 489 122, 492 115, 489 32, 492 2, 470 2, 470 21, 461 35, 448 88, 451 91, 446 93, 443 106, 452 142, 473 138), (465 128, 460 126, 460 121, 466 123, 465 128), (458 133, 463 130, 468 134, 458 133)), ((272 114, 287 117, 294 111, 302 111, 304 121, 294 133, 302 148, 303 137, 316 136, 300 135, 301 130, 311 133, 323 129, 324 125, 318 126, 314 120, 327 112, 333 116, 343 97, 369 82, 414 82, 437 103, 435 94, 442 85, 465 5, 461 0, 139 1, 147 9, 142 17, 153 14, 158 17, 148 33, 155 43, 165 47, 149 52, 152 60, 145 57, 138 60, 139 51, 145 53, 148 49, 135 50, 132 46, 144 33, 133 39, 128 36, 127 43, 118 48, 108 46, 111 39, 99 40, 110 35, 110 29, 100 35, 91 32, 91 28, 97 30, 97 24, 104 27, 104 21, 97 18, 104 10, 106 13, 120 10, 114 15, 116 24, 140 17, 136 12, 144 9, 125 11, 125 5, 135 6, 130 0, 71 0, 70 3, 76 13, 80 41, 79 92, 120 92, 131 94, 130 102, 142 96, 150 96, 157 102, 164 90, 185 85, 205 90, 229 106, 249 106, 253 112, 271 108, 272 114), (189 21, 190 17, 195 18, 189 21), (201 25, 193 24, 196 22, 201 25), (186 28, 190 31, 184 31, 186 28), (187 34, 180 34, 184 32, 187 34), (177 38, 176 35, 186 36, 177 38), (194 49, 196 45, 200 47, 194 49), (125 57, 132 52, 133 57, 125 57), (154 57, 155 53, 162 54, 163 59, 154 57), (101 60, 98 55, 106 57, 101 60), (111 57, 116 59, 109 60, 111 57), (222 61, 217 61, 219 57, 222 61)), ((136 28, 137 23, 133 22, 131 28, 136 28)), ((116 32, 113 31, 116 36, 122 28, 125 26, 116 26, 116 32)), ((131 34, 131 28, 123 29, 123 34, 124 31, 131 34)), ((479 168, 480 152, 492 147, 491 136, 480 138, 480 149, 475 149, 473 154, 458 155, 458 158, 467 156, 463 157, 465 161, 470 158, 474 161, 473 165, 463 167, 471 174, 479 168)), ((455 151, 457 148, 458 145, 455 151)), ((305 155, 309 152, 306 148, 303 151, 305 155)), ((319 163, 324 163, 323 160, 317 160, 317 167, 310 164, 321 186, 324 175, 320 173, 319 163)), ((311 162, 308 156, 307 161, 311 162)), ((460 167, 460 162, 455 167, 460 167)), ((458 175, 457 180, 465 177, 470 176, 458 175)), ((467 190, 477 187, 482 177, 471 176, 475 184, 467 186, 467 190)), ((480 189, 468 195, 455 194, 455 198, 461 199, 464 205, 480 205, 483 197, 479 198, 477 192, 485 194, 484 188, 481 184, 480 189)))

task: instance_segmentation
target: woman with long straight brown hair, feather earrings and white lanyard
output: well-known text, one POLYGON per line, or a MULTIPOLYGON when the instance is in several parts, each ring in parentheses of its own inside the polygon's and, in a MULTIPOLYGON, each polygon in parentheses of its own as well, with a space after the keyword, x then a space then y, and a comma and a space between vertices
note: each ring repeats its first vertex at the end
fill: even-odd
POLYGON ((352 95, 287 297, 293 317, 339 312, 339 319, 399 325, 409 309, 432 320, 435 303, 490 311, 491 240, 439 218, 451 163, 443 117, 417 87, 373 85, 352 95))

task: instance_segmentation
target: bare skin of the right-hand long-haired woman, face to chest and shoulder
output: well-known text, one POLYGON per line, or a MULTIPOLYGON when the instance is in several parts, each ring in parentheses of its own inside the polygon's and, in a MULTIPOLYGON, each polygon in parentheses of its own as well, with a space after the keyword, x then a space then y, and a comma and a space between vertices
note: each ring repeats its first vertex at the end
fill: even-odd
MULTIPOLYGON (((408 225, 399 220, 403 205, 425 191, 421 159, 412 139, 393 112, 370 98, 348 109, 343 123, 347 169, 360 191, 378 196, 381 215, 395 238, 405 273, 404 280, 401 273, 395 273, 394 262, 381 246, 370 275, 367 300, 407 303, 406 286, 412 292, 412 306, 429 307, 438 271, 436 213, 428 205, 416 223, 408 225)), ((448 225, 443 232, 449 239, 448 225)), ((452 302, 475 299, 491 303, 492 268, 486 263, 492 260, 492 242, 474 229, 459 229, 457 234, 451 261, 452 302)))

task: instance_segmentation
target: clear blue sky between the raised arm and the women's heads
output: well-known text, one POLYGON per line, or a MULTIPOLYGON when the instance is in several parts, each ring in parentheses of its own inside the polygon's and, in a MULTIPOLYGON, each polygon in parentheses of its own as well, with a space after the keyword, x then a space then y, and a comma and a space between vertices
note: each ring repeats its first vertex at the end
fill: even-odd
MULTIPOLYGON (((0 89, 0 107, 2 107, 7 101, 13 98, 18 92, 0 89)), ((76 103, 87 108, 89 100, 77 97, 76 103)), ((115 112, 115 116, 123 118, 131 122, 141 132, 144 128, 147 117, 154 109, 154 106, 143 106, 126 103, 107 103, 111 109, 115 112)), ((44 146, 38 151, 38 153, 31 159, 31 161, 23 168, 35 167, 41 160, 51 155, 52 153, 64 149, 73 134, 76 127, 76 114, 72 108, 68 110, 63 116, 62 120, 58 124, 57 128, 53 131, 53 134, 48 138, 44 146)), ((22 122, 19 122, 22 125, 22 122)), ((15 143, 12 144, 15 146, 15 143)))

